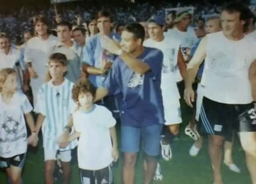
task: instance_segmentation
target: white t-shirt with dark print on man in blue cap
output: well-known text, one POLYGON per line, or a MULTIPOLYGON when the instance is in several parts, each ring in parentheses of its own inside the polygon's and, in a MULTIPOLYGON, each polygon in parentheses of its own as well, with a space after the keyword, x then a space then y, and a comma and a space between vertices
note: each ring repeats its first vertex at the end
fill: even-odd
POLYGON ((149 38, 143 42, 145 47, 151 47, 159 49, 164 54, 161 89, 164 102, 171 102, 172 99, 177 101, 180 98, 180 94, 176 84, 175 67, 178 63, 178 53, 180 49, 180 41, 175 38, 165 37, 163 41, 156 42, 149 38), (172 99, 170 99, 172 98, 172 99))

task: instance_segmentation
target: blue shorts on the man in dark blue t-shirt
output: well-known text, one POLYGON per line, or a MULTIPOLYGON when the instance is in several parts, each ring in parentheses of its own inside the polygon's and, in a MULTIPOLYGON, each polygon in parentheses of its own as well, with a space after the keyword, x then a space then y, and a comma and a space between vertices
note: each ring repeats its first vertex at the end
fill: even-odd
POLYGON ((160 124, 145 127, 121 126, 121 150, 124 153, 137 153, 142 142, 142 149, 148 156, 158 156, 162 127, 160 124))

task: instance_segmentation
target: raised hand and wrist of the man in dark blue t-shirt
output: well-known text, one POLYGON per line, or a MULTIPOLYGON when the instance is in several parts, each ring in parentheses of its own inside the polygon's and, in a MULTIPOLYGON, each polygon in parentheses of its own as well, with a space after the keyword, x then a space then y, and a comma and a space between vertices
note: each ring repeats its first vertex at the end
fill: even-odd
POLYGON ((108 52, 116 55, 120 54, 121 46, 116 40, 112 40, 108 36, 102 34, 100 37, 100 44, 101 47, 108 52))

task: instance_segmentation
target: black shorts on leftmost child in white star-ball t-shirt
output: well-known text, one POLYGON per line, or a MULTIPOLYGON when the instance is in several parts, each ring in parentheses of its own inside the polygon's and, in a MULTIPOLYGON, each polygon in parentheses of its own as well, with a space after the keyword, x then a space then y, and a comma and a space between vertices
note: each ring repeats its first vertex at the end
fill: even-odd
POLYGON ((11 165, 14 167, 22 168, 25 164, 26 153, 16 155, 10 158, 0 157, 0 168, 9 168, 11 165))

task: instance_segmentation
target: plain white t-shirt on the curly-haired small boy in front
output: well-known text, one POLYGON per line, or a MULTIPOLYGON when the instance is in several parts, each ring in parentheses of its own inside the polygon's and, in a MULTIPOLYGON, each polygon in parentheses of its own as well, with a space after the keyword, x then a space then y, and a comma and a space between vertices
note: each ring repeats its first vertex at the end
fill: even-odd
POLYGON ((116 120, 104 106, 94 105, 92 111, 73 114, 75 131, 80 133, 77 156, 80 169, 100 170, 113 161, 110 127, 116 120))

